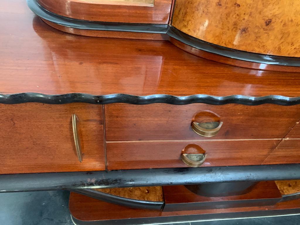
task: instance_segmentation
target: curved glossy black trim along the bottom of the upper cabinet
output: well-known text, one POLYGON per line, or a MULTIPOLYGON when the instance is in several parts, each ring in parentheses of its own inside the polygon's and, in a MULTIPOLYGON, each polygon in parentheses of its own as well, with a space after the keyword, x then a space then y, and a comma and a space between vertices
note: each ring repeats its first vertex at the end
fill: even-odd
MULTIPOLYGON (((254 52, 245 52, 236 49, 230 49, 223 46, 211 44, 193 38, 178 29, 168 26, 167 24, 137 24, 137 23, 119 23, 119 22, 96 22, 81 19, 72 19, 49 12, 41 7, 36 0, 27 0, 29 8, 38 16, 70 28, 86 29, 86 30, 105 30, 105 31, 127 31, 127 32, 147 32, 147 33, 161 33, 167 34, 184 44, 192 46, 206 52, 210 52, 225 57, 250 61, 262 64, 272 64, 281 66, 300 66, 300 59, 297 57, 264 55, 254 52)), ((261 68, 264 69, 264 68, 261 68)))

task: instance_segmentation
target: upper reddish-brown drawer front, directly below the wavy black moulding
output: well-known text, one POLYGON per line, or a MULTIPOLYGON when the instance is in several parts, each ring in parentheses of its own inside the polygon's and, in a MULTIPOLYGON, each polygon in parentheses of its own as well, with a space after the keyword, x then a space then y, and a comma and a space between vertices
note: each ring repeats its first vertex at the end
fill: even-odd
POLYGON ((264 104, 105 105, 107 141, 283 138, 300 118, 300 106, 264 104), (223 122, 214 137, 191 129, 192 121, 223 122))

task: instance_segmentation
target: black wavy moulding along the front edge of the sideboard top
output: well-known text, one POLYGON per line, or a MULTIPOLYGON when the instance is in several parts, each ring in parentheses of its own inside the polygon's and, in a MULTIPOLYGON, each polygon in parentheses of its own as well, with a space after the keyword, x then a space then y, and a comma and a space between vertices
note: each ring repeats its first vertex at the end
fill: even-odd
POLYGON ((300 97, 285 97, 280 95, 268 95, 251 97, 244 95, 212 96, 212 95, 90 95, 83 93, 70 93, 63 95, 46 95, 41 93, 18 93, 0 94, 0 104, 20 104, 26 102, 40 102, 45 104, 67 104, 73 102, 84 102, 89 104, 112 104, 127 103, 134 105, 146 105, 153 103, 166 103, 172 105, 186 105, 193 103, 205 103, 210 105, 225 105, 230 103, 243 105, 277 104, 292 106, 300 104, 300 97))

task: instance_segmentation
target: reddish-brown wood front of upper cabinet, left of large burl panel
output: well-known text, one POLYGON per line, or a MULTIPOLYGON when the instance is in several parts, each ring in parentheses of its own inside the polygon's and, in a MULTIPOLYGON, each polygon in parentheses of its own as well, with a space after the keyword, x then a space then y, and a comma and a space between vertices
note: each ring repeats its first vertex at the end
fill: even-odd
POLYGON ((37 2, 52 13, 74 19, 127 22, 156 23, 169 22, 172 0, 155 0, 153 6, 105 4, 79 0, 37 0, 37 2))

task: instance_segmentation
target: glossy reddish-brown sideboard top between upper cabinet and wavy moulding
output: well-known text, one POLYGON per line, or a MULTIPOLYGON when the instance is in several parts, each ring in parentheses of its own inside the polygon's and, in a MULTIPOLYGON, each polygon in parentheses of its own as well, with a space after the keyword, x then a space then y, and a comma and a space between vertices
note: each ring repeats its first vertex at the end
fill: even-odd
POLYGON ((66 34, 46 25, 22 0, 3 0, 0 13, 1 94, 300 96, 300 73, 222 64, 168 41, 66 34))

